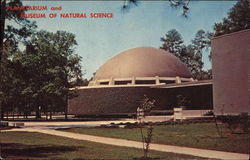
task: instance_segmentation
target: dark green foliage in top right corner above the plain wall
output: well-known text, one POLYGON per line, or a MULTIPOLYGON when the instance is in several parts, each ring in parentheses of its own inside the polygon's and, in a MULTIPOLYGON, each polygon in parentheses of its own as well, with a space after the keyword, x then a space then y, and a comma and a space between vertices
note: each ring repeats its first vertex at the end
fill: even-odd
POLYGON ((250 1, 239 0, 220 23, 215 23, 215 36, 250 29, 250 1))

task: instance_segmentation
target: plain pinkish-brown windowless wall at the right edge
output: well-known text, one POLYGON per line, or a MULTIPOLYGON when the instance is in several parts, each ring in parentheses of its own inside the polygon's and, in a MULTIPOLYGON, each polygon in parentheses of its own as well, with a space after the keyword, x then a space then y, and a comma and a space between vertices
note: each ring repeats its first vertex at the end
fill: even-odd
POLYGON ((215 114, 249 113, 250 30, 212 40, 215 114))

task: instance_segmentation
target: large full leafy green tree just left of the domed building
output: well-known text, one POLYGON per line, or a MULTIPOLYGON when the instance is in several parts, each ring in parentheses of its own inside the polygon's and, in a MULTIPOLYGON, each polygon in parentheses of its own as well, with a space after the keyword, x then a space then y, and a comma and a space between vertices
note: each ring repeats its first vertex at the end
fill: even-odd
POLYGON ((41 110, 67 113, 67 100, 74 95, 69 88, 82 78, 76 45, 71 33, 40 31, 32 36, 25 53, 14 59, 22 65, 22 96, 28 97, 26 105, 35 107, 37 118, 41 110))

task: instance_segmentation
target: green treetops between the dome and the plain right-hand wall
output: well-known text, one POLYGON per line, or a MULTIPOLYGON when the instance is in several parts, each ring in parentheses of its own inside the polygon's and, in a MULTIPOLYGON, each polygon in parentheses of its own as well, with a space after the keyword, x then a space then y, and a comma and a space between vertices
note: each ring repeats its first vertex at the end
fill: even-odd
POLYGON ((185 63, 194 78, 211 79, 211 70, 204 71, 202 69, 203 50, 209 49, 211 38, 211 33, 199 30, 192 40, 192 44, 185 45, 181 34, 176 29, 172 29, 167 32, 165 37, 161 38, 163 44, 160 48, 172 53, 185 63))

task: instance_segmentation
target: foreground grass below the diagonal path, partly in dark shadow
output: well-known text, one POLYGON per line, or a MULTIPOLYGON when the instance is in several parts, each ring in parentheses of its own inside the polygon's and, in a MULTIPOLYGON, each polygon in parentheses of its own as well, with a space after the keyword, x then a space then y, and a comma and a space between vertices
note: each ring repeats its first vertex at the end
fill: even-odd
MULTIPOLYGON (((140 149, 104 145, 31 132, 1 132, 1 156, 4 159, 133 159, 142 157, 140 149)), ((201 159, 164 152, 149 152, 161 159, 201 159)))

